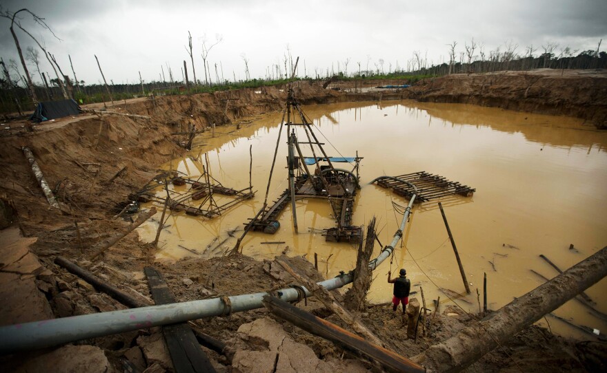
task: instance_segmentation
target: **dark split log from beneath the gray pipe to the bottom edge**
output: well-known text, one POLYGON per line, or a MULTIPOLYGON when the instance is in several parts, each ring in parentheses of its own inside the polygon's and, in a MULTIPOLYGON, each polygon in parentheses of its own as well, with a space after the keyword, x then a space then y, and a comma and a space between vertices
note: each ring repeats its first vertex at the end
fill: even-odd
POLYGON ((347 350, 365 354, 392 370, 397 372, 424 372, 424 367, 413 363, 403 356, 379 345, 369 343, 356 334, 339 328, 334 323, 316 317, 276 297, 270 295, 264 296, 263 305, 277 317, 293 323, 295 326, 306 330, 306 332, 328 339, 347 350))

